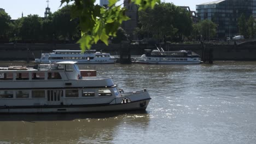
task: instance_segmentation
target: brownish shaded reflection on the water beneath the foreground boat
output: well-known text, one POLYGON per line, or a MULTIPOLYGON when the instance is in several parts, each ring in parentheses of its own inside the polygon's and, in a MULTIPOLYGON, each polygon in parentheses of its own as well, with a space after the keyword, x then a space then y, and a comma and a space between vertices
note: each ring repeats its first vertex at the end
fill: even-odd
POLYGON ((146 131, 149 114, 146 111, 2 114, 0 123, 0 143, 110 143, 121 129, 146 131))

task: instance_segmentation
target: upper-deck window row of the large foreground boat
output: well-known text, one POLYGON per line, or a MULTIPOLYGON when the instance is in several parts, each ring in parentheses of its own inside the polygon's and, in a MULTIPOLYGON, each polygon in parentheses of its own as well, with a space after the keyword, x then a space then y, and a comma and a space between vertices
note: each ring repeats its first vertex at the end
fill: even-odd
MULTIPOLYGON (((72 69, 73 70, 73 69, 72 69)), ((0 73, 0 81, 2 80, 45 80, 47 77, 48 80, 61 80, 61 75, 59 72, 20 72, 20 73, 0 73)))

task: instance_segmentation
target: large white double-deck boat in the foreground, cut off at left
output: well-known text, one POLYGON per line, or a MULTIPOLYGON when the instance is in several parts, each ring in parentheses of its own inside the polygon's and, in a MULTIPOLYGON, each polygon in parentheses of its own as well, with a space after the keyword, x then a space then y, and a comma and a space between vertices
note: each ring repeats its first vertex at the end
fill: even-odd
POLYGON ((75 63, 0 68, 0 113, 146 110, 146 89, 124 93, 111 78, 92 76, 75 63))

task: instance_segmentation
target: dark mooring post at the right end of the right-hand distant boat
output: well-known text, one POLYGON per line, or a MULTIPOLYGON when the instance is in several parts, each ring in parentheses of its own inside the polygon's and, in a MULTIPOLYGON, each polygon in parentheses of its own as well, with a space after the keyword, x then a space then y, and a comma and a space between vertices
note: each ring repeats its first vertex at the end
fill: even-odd
POLYGON ((202 59, 203 63, 213 64, 213 48, 210 45, 202 44, 202 59))

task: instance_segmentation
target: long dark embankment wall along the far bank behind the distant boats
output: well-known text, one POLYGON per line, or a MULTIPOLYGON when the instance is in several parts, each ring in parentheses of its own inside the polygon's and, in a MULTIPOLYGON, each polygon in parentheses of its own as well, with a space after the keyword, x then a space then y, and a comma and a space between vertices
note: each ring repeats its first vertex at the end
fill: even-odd
MULTIPOLYGON (((160 47, 158 45, 158 47, 160 47)), ((163 44, 165 51, 189 50, 202 55, 203 47, 213 50, 213 61, 256 61, 256 41, 247 41, 240 44, 163 44)), ((96 44, 91 49, 109 52, 119 56, 121 44, 96 44)), ((144 49, 156 49, 154 44, 131 44, 133 56, 140 56, 144 49)), ((80 50, 79 44, 0 44, 1 61, 33 61, 40 58, 41 53, 53 50, 80 50)))

